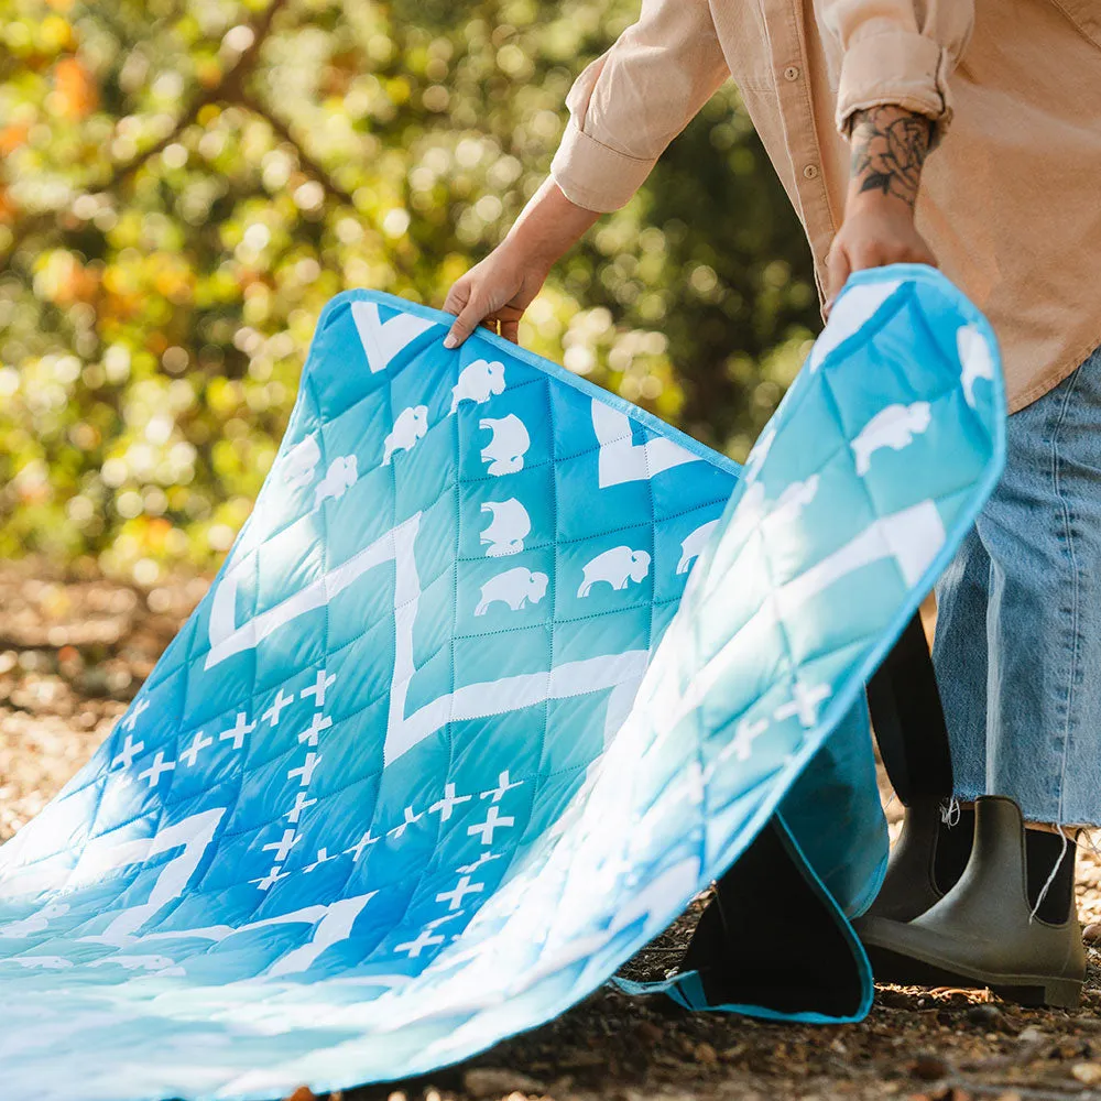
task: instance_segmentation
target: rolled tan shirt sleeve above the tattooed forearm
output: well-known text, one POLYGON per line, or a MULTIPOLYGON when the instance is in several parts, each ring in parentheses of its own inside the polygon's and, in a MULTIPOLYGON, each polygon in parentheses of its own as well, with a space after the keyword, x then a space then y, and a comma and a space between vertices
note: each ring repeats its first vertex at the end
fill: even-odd
POLYGON ((837 127, 894 106, 925 115, 939 141, 952 117, 948 78, 971 36, 974 0, 819 0, 822 31, 841 48, 837 127))

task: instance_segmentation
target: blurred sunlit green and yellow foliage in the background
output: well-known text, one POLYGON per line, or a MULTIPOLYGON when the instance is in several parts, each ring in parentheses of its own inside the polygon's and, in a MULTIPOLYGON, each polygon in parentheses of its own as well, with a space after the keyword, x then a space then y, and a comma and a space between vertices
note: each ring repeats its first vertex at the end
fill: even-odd
MULTIPOLYGON (((153 584, 229 546, 324 303, 439 305, 637 0, 0 0, 0 553, 153 584)), ((743 457, 818 312, 724 89, 523 342, 743 457)))

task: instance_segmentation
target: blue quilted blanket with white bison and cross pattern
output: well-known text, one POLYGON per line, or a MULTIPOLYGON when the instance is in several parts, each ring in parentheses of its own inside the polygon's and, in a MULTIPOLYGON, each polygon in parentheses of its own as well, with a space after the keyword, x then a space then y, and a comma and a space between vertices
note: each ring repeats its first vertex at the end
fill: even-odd
POLYGON ((448 324, 326 307, 210 592, 0 850, 0 1095, 425 1072, 577 1002, 732 866, 662 988, 866 1011, 862 686, 999 475, 986 323, 928 269, 855 276, 743 471, 448 324))

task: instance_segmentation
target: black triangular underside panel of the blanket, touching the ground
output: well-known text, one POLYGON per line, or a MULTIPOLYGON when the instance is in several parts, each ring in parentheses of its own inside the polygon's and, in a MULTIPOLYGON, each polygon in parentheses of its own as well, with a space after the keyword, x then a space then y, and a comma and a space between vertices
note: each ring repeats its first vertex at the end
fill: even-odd
POLYGON ((719 880, 682 967, 699 971, 712 1005, 851 1016, 863 993, 836 912, 807 881, 775 818, 719 880))

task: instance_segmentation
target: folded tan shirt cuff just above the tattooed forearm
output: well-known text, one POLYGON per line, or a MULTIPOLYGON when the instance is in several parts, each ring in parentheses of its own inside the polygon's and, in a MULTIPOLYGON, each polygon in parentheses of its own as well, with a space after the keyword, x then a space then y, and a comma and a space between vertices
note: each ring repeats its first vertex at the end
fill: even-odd
POLYGON ((838 130, 848 137, 857 111, 901 107, 936 123, 936 144, 952 117, 951 68, 947 50, 913 31, 885 31, 850 43, 837 94, 838 130))

